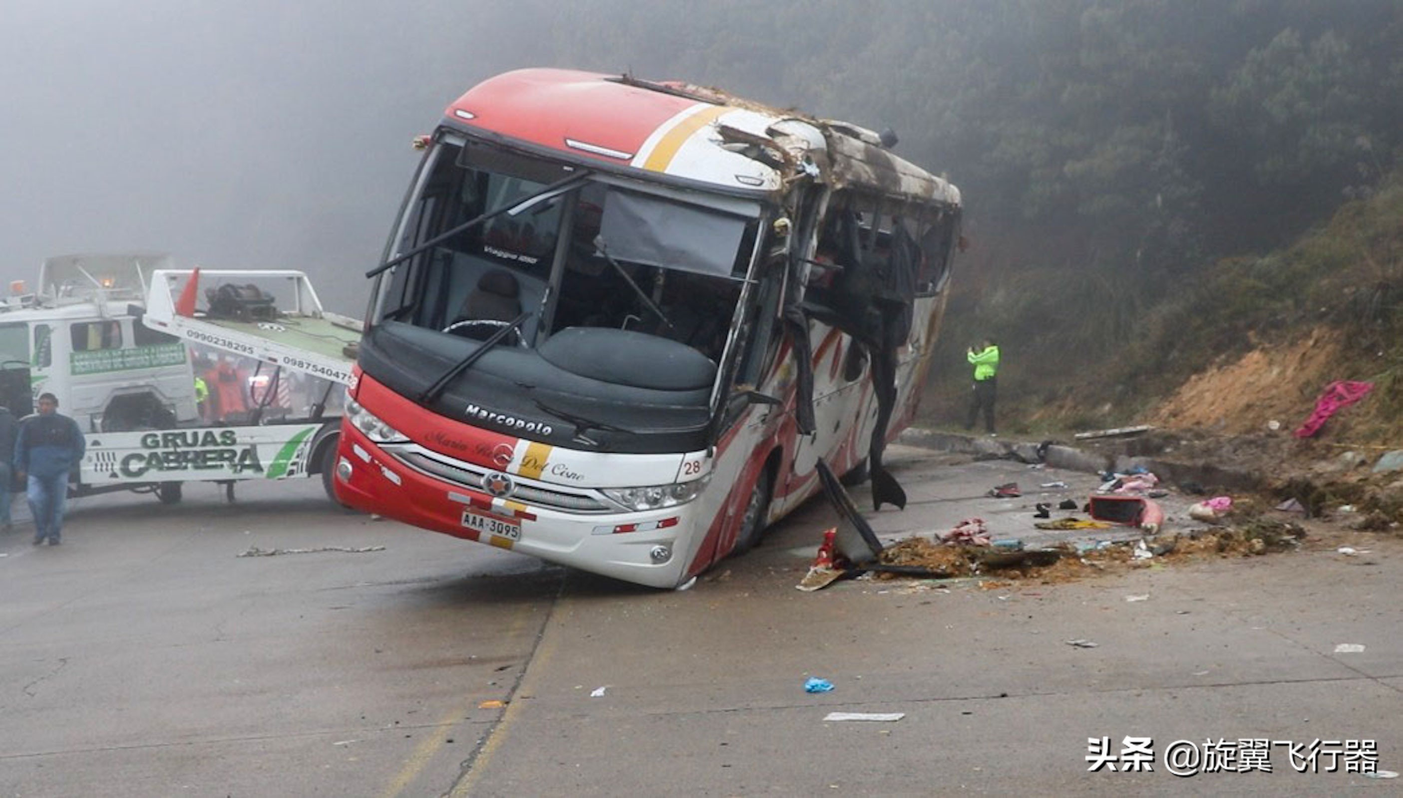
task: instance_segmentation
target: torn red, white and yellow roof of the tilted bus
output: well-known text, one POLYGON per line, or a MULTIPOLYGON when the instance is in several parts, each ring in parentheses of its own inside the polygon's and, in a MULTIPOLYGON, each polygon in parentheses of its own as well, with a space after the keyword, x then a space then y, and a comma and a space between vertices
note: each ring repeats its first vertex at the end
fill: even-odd
POLYGON ((875 133, 685 83, 523 69, 477 84, 445 116, 450 128, 595 168, 644 170, 730 192, 776 194, 814 180, 960 203, 958 189, 873 143, 875 133))

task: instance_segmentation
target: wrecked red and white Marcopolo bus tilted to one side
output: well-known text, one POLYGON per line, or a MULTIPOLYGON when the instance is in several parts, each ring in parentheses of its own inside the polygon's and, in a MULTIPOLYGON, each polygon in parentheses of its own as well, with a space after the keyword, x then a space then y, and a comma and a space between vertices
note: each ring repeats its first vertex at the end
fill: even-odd
POLYGON ((916 410, 960 192, 884 136, 530 69, 453 102, 386 247, 341 501, 658 588, 873 477, 916 410))

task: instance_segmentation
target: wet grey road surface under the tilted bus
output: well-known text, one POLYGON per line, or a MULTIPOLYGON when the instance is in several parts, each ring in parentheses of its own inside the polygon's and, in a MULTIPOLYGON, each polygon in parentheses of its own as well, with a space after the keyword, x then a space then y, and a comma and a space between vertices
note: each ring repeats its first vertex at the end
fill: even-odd
MULTIPOLYGON (((1062 480, 1085 496, 1096 482, 899 447, 894 468, 912 503, 873 518, 888 537, 978 515, 996 537, 1031 540, 1040 498, 984 491, 1062 480)), ((1172 526, 1184 503, 1169 501, 1172 526)), ((1270 746, 1375 740, 1376 767, 1403 770, 1396 537, 1361 533, 1357 557, 1308 543, 1070 585, 847 581, 801 593, 833 520, 811 502, 690 590, 657 592, 345 513, 310 481, 248 485, 234 505, 201 487, 175 508, 95 496, 72 510, 62 547, 31 547, 25 527, 0 537, 0 795, 1400 784, 1344 773, 1368 756, 1322 753, 1322 773, 1302 774, 1289 746, 1270 746), (1097 647, 1066 644, 1078 638, 1097 647), (805 693, 810 676, 835 690, 805 693), (825 722, 831 711, 905 717, 825 722), (1111 756, 1127 736, 1150 738, 1153 771, 1089 773, 1089 738, 1101 736, 1111 756), (1233 773, 1246 755, 1226 771, 1167 773, 1170 742, 1209 738, 1267 740, 1271 773, 1233 773), (1331 759, 1340 771, 1323 773, 1331 759)), ((1229 746, 1216 750, 1223 764, 1229 746)))

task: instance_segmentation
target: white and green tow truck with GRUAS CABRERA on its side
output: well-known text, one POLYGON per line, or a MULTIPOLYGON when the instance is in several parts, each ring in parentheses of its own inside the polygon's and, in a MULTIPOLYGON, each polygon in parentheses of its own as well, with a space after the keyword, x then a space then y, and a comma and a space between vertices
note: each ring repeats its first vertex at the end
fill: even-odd
POLYGON ((337 408, 359 337, 361 323, 324 310, 303 272, 62 255, 45 261, 38 292, 13 283, 0 303, 0 401, 22 417, 53 393, 77 421, 87 454, 74 496, 129 489, 175 503, 191 481, 222 482, 233 498, 237 481, 320 475, 334 499, 337 408), (236 380, 224 394, 241 400, 237 411, 202 415, 198 352, 215 353, 210 377, 236 380))

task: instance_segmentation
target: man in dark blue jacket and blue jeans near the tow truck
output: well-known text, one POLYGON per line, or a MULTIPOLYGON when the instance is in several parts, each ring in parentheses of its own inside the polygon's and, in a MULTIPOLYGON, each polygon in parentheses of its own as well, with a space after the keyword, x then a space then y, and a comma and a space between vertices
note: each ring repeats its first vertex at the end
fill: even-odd
POLYGON ((76 421, 59 415, 59 397, 39 394, 39 414, 20 422, 14 442, 14 470, 28 477, 27 498, 34 513, 34 544, 48 539, 58 546, 63 533, 63 502, 69 498, 69 471, 87 450, 76 421))

